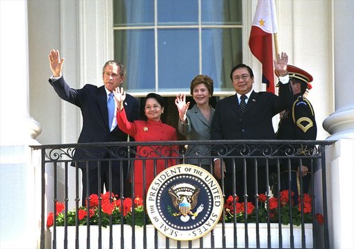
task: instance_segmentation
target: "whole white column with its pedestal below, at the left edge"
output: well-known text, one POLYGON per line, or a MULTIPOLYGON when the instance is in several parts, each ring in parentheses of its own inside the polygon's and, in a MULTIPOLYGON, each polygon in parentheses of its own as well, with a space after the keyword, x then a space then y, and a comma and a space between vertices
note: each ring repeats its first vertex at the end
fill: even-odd
POLYGON ((40 164, 28 145, 41 125, 28 111, 26 0, 0 0, 0 55, 0 248, 37 248, 40 164))

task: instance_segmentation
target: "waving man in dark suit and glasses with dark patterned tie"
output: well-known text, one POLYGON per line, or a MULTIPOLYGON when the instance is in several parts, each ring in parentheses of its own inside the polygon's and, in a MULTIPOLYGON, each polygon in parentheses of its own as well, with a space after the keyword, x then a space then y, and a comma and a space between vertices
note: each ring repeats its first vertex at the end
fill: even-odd
MULTIPOLYGON (((289 87, 289 76, 287 75, 288 56, 285 53, 278 55, 274 61, 275 69, 280 74, 280 88, 283 90, 282 98, 269 92, 253 91, 252 69, 244 64, 236 65, 231 70, 231 80, 236 94, 220 100, 216 104, 214 120, 211 124, 212 140, 274 140, 275 133, 272 118, 280 111, 287 109, 291 105, 291 89, 289 87), (243 100, 242 100, 243 99, 243 100)), ((242 146, 231 148, 231 155, 240 156, 250 153, 253 147, 242 146)), ((262 155, 262 148, 258 148, 259 153, 252 155, 262 155)), ((268 148, 269 149, 269 148, 268 148)), ((216 155, 217 158, 217 155, 216 155)), ((255 195, 265 193, 266 186, 266 161, 250 158, 242 160, 225 160, 225 167, 221 166, 220 159, 214 161, 214 173, 219 179, 223 177, 225 196, 236 195, 247 202, 253 202, 255 195), (245 164, 244 164, 245 162, 245 164), (235 165, 236 172, 233 172, 235 165), (257 178, 255 177, 255 165, 257 166, 257 178), (222 173, 222 168, 225 172, 222 173), (244 172, 244 169, 247 169, 244 172), (244 173, 246 177, 244 177, 244 173), (236 180, 233 181, 233 175, 236 180), (258 188, 256 189, 256 183, 258 188), (244 188, 246 186, 247 188, 244 188)), ((254 202, 253 202, 254 203, 254 202)))

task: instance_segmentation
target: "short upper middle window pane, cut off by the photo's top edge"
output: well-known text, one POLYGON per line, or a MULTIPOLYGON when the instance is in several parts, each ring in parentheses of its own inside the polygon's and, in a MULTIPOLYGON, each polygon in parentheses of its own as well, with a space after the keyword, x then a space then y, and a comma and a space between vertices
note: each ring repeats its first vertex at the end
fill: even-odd
POLYGON ((198 24, 198 0, 158 0, 158 25, 198 24))

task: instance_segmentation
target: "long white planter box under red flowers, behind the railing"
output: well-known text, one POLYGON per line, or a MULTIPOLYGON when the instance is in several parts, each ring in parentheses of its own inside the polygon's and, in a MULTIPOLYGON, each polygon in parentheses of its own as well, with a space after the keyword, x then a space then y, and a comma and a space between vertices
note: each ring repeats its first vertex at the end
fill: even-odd
MULTIPOLYGON (((306 248, 313 248, 312 224, 305 224, 306 248)), ((53 240, 53 228, 50 233, 53 240)), ((132 248, 132 227, 124 225, 124 248, 132 248)), ((147 248, 155 248, 154 226, 147 225, 147 248)), ((260 224, 260 248, 267 248, 267 224, 260 224)), ((67 227, 67 248, 75 248, 75 226, 67 227)), ((87 227, 79 226, 79 245, 80 248, 87 247, 86 236, 87 227)), ((112 226, 113 247, 121 248, 121 225, 112 226)), ((278 224, 271 224, 271 247, 279 248, 278 224)), ((158 248, 166 248, 166 238, 160 232, 157 232, 158 248)), ((256 224, 248 224, 249 248, 256 248, 256 224)), ((301 227, 293 226, 294 247, 302 248, 301 227)), ((226 248, 233 248, 233 224, 225 224, 226 248)), ((135 228, 135 248, 143 248, 143 228, 135 228)), ((211 233, 203 237, 202 245, 204 248, 211 248, 211 233)), ((102 228, 102 248, 110 246, 110 228, 102 228)), ((245 248, 244 224, 237 224, 237 247, 245 248)), ((181 241, 180 248, 188 248, 188 241, 181 241)), ((200 248, 200 239, 192 241, 192 248, 200 248)), ((222 248, 222 225, 217 224, 214 228, 214 247, 222 248)), ((282 225, 282 247, 290 248, 290 226, 282 225)), ((64 227, 56 227, 56 248, 64 248, 64 227)), ((98 226, 90 226, 90 248, 98 248, 98 226)), ((177 241, 169 239, 169 248, 178 248, 177 241)))

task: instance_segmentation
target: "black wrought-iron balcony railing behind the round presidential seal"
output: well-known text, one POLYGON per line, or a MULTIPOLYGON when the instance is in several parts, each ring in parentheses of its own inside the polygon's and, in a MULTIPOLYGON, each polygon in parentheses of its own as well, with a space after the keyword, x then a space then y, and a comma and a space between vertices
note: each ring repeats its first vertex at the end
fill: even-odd
MULTIPOLYGON (((298 241, 300 243, 301 248, 306 248, 306 239, 311 239, 313 241, 313 248, 329 248, 329 230, 328 230, 328 219, 327 219, 327 205, 326 205, 326 162, 325 162, 325 147, 333 144, 333 141, 298 141, 298 140, 210 140, 210 141, 167 141, 167 142, 113 142, 113 143, 90 143, 90 144, 52 144, 52 145, 41 145, 41 146, 32 146, 35 150, 41 150, 41 248, 45 248, 45 241, 48 241, 46 236, 49 236, 47 224, 45 221, 47 220, 47 215, 49 210, 56 213, 56 204, 57 202, 63 202, 65 205, 65 209, 63 210, 65 222, 64 222, 64 239, 61 241, 56 240, 56 232, 59 228, 56 224, 56 219, 54 218, 53 226, 52 226, 52 240, 51 246, 52 248, 68 248, 67 237, 70 231, 68 230, 68 210, 69 206, 73 206, 73 210, 76 210, 76 219, 74 221, 75 224, 75 248, 107 248, 103 244, 103 236, 102 222, 98 221, 98 238, 95 239, 96 243, 92 245, 90 242, 90 227, 92 228, 92 222, 90 222, 90 216, 87 215, 85 217, 86 224, 85 225, 85 234, 86 238, 83 241, 79 239, 79 208, 81 206, 81 178, 80 171, 78 165, 85 165, 87 169, 89 169, 92 163, 98 166, 100 169, 101 164, 105 162, 112 172, 112 164, 118 162, 121 165, 121 193, 118 194, 118 199, 121 199, 121 210, 123 210, 123 201, 127 197, 131 197, 133 199, 136 198, 134 196, 134 179, 131 183, 125 183, 125 179, 123 179, 123 172, 129 171, 134 172, 134 162, 136 160, 140 160, 145 165, 145 160, 152 160, 154 162, 154 175, 156 175, 156 162, 158 160, 164 160, 165 167, 167 168, 168 160, 176 160, 177 164, 194 164, 196 166, 202 166, 207 169, 211 174, 214 172, 214 160, 216 158, 222 159, 224 161, 228 161, 229 165, 231 165, 231 171, 233 174, 233 178, 235 179, 236 173, 242 173, 244 179, 247 178, 247 167, 255 167, 256 177, 264 177, 267 185, 275 186, 273 188, 274 193, 280 192, 280 178, 278 175, 280 174, 280 165, 285 164, 289 169, 291 169, 291 165, 296 163, 301 165, 302 161, 306 160, 311 162, 309 166, 309 171, 311 171, 311 192, 309 193, 311 197, 311 213, 306 214, 307 217, 311 215, 311 223, 312 223, 312 238, 306 238, 305 236, 305 214, 304 214, 304 206, 303 206, 303 198, 304 194, 302 193, 302 177, 300 180, 300 230, 301 236, 294 237, 293 228, 295 224, 293 224, 293 219, 289 219, 289 228, 290 234, 289 248, 295 248, 295 242, 298 241), (161 151, 164 150, 165 147, 173 147, 174 153, 171 155, 165 155, 161 151), (143 151, 149 151, 150 153, 143 153, 143 151), (75 156, 76 151, 80 151, 80 157, 75 156), (154 155, 151 156, 151 151, 153 151, 154 155), (105 156, 109 155, 109 156, 105 156), (249 161, 252 160, 254 163, 249 164, 249 161), (74 165, 74 166, 71 166, 74 165), (205 167, 207 165, 207 167, 205 167), (255 166, 256 165, 256 166, 255 166), (265 174, 257 175, 258 166, 264 166, 265 174), (127 169, 123 169, 126 167, 127 169), (236 171, 236 167, 241 167, 241 171, 236 171), (273 171, 272 175, 275 177, 271 177, 270 173, 273 171), (74 179, 74 184, 70 182, 70 179, 74 179), (58 186, 58 183, 63 183, 58 186), (319 225, 315 221, 316 213, 322 213, 324 215, 324 223, 319 228, 319 225), (47 232, 46 232, 47 231, 47 232), (68 232, 69 231, 69 232, 68 232)), ((222 166, 222 170, 223 170, 222 166)), ((145 176, 145 169, 143 169, 143 175, 145 176)), ((100 177, 100 171, 98 170, 98 178, 100 177)), ((134 173, 132 174, 134 175, 134 173)), ((134 177, 133 177, 134 178, 134 177)), ((112 186, 112 181, 116 181, 116 179, 112 179, 110 177, 110 186, 112 186)), ((260 202, 259 195, 257 191, 257 182, 254 182, 256 186, 256 196, 254 198, 253 204, 255 204, 255 212, 252 219, 247 215, 247 204, 244 204, 245 212, 242 219, 239 219, 237 215, 235 218, 230 219, 227 216, 227 211, 224 208, 222 211, 222 216, 220 218, 220 227, 222 228, 222 232, 211 232, 210 243, 206 243, 203 241, 203 237, 199 239, 200 243, 198 247, 202 248, 240 248, 238 245, 238 241, 242 239, 244 248, 251 248, 251 243, 249 241, 249 229, 251 223, 256 224, 256 242, 254 246, 255 248, 261 248, 260 244, 260 228, 259 224, 261 221, 266 220, 267 227, 267 248, 283 248, 282 246, 282 223, 284 223, 284 217, 281 217, 280 211, 278 212, 278 218, 271 217, 271 208, 265 208, 266 217, 259 217, 260 208, 258 203, 260 202), (241 221, 242 220, 242 221, 241 221), (272 220, 276 220, 276 224, 278 224, 278 243, 277 246, 272 246, 271 244, 271 236, 274 236, 271 233, 271 223, 272 220), (230 238, 227 237, 225 230, 227 222, 231 222, 232 226, 232 237, 233 237, 233 245, 231 247, 227 247, 227 240, 230 238), (236 227, 242 226, 244 228, 244 233, 242 233, 242 238, 238 234, 238 230, 236 227), (216 241, 220 241, 221 246, 217 246, 216 241), (207 245, 207 246, 203 246, 207 245)), ((98 183, 98 186, 100 184, 98 183)), ((236 186, 231 182, 224 182, 224 180, 220 180, 220 188, 224 191, 225 186, 231 186, 233 197, 236 196, 236 186)), ((289 183, 290 186, 290 183, 289 183)), ((106 191, 110 191, 112 189, 109 187, 106 191)), ((247 188, 244 188, 244 203, 252 202, 253 197, 249 197, 247 195, 247 188)), ((146 193, 147 189, 143 190, 143 193, 146 193)), ((101 192, 105 192, 101 190, 101 192)), ((87 196, 88 195, 87 191, 87 196)), ((97 193, 99 195, 99 193, 97 193)), ((270 198, 273 196, 270 188, 267 189, 266 201, 264 206, 269 206, 270 198)), ((291 199, 291 193, 289 191, 289 197, 291 199)), ((225 197, 226 199, 227 197, 225 197)), ((143 196, 144 209, 145 209, 145 196, 143 196)), ((282 199, 280 195, 277 197, 278 207, 281 209, 282 199)), ((110 198, 110 201, 113 202, 113 198, 110 198)), ((101 207, 102 199, 98 198, 98 205, 101 207)), ((233 204, 236 204, 236 199, 233 198, 233 204)), ((85 203, 85 202, 83 202, 85 203)), ((289 207, 289 215, 292 217, 292 213, 295 213, 295 209, 297 207, 291 206, 289 207)), ((100 209, 101 210, 101 209, 100 209)), ((233 205, 233 210, 229 210, 230 213, 237 213, 236 205, 233 205)), ((100 212, 101 215, 101 212, 100 212)), ((121 222, 119 234, 114 234, 116 230, 113 229, 114 221, 112 219, 112 215, 110 217, 110 222, 108 225, 108 229, 110 229, 109 235, 109 248, 138 248, 136 246, 136 239, 142 241, 143 248, 148 248, 147 242, 153 242, 154 248, 159 248, 159 236, 158 231, 155 229, 154 238, 147 237, 147 225, 148 219, 147 215, 144 213, 145 219, 143 219, 143 237, 136 238, 135 229, 133 229, 132 235, 129 235, 130 238, 124 239, 124 236, 127 236, 126 229, 127 225, 124 225, 121 222), (117 239, 118 238, 118 239, 117 239), (129 243, 125 243, 125 241, 129 241, 129 243), (118 247, 117 247, 118 244, 118 247)), ((132 212, 132 227, 136 228, 136 214, 135 211, 132 212)), ((55 215, 54 215, 55 217, 55 215)), ((100 216, 101 217, 101 216, 100 216)), ((125 217, 123 217, 123 212, 121 213, 120 220, 123 221, 125 217)), ((93 236, 93 235, 92 235, 93 236)), ((140 235, 139 235, 140 236, 140 235)), ((254 238, 253 238, 254 239, 254 238)), ((180 241, 176 242, 173 239, 165 238, 164 239, 164 247, 166 248, 183 248, 184 244, 180 241), (175 247, 176 246, 176 247, 175 247)), ((48 246, 48 245, 47 245, 48 246)), ((187 242, 187 248, 192 248, 192 242, 187 242)))

